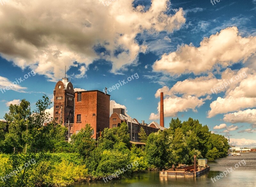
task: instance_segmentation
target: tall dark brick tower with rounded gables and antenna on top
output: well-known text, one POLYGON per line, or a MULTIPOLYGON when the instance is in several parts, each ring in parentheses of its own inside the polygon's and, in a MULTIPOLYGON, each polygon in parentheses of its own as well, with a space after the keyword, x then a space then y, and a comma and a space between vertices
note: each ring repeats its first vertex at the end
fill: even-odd
POLYGON ((71 82, 68 78, 62 78, 58 81, 54 95, 54 119, 57 123, 65 125, 66 123, 74 123, 74 109, 75 109, 75 93, 71 82))

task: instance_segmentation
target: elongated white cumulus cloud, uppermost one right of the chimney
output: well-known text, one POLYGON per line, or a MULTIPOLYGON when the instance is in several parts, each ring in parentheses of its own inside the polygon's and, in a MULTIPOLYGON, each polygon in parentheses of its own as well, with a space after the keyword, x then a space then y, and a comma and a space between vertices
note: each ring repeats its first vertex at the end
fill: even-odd
POLYGON ((204 38, 200 47, 182 45, 175 52, 164 54, 153 65, 154 71, 170 74, 200 74, 211 71, 215 66, 228 67, 237 62, 245 62, 255 55, 256 36, 242 37, 238 28, 228 27, 204 38))

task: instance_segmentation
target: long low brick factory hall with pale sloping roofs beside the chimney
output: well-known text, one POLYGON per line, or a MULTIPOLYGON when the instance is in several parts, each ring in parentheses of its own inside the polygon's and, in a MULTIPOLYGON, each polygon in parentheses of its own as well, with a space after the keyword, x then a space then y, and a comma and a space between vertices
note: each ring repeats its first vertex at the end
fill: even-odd
POLYGON ((142 121, 142 123, 139 123, 137 119, 133 119, 131 116, 125 113, 124 108, 113 108, 113 114, 109 118, 109 128, 119 127, 123 122, 127 124, 127 120, 130 140, 135 142, 140 142, 138 133, 140 132, 141 127, 144 129, 147 135, 149 135, 152 132, 157 132, 159 130, 163 131, 165 129, 156 122, 147 124, 144 123, 144 121, 142 121))

